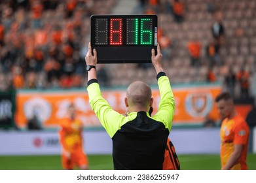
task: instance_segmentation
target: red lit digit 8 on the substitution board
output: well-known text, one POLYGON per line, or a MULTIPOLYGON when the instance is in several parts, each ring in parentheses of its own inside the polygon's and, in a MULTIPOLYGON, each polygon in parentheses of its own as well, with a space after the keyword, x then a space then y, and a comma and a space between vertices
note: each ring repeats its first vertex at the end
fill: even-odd
POLYGON ((110 19, 110 45, 122 45, 122 18, 110 19))

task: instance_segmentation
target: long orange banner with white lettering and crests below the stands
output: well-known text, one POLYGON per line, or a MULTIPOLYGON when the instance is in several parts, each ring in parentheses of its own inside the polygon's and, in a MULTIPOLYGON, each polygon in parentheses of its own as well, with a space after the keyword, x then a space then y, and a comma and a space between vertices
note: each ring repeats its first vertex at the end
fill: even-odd
MULTIPOLYGON (((173 88, 175 96, 174 125, 202 124, 206 115, 213 120, 219 119, 214 99, 221 91, 219 85, 202 85, 173 88)), ((103 90, 103 97, 114 110, 124 114, 126 90, 103 90)), ((153 89, 154 112, 158 110, 160 93, 153 89)), ((36 115, 43 127, 57 127, 67 114, 67 107, 74 103, 78 117, 84 127, 100 127, 101 124, 88 103, 88 93, 84 90, 58 90, 56 92, 19 91, 16 96, 16 125, 26 127, 27 120, 36 115)))

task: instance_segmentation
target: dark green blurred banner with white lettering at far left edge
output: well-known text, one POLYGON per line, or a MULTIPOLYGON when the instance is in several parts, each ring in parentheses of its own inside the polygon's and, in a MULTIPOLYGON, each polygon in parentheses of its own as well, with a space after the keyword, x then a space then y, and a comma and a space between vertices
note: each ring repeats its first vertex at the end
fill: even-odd
POLYGON ((14 124, 15 92, 0 92, 0 128, 9 128, 14 124))

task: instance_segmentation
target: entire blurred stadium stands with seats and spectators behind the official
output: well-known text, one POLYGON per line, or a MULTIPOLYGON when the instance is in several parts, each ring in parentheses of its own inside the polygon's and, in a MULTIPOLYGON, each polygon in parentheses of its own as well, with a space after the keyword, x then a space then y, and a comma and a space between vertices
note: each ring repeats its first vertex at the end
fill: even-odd
MULTIPOLYGON (((0 90, 84 87, 90 16, 111 14, 117 3, 1 1, 0 90)), ((234 97, 251 95, 256 1, 138 0, 134 14, 157 14, 158 42, 172 83, 222 82, 234 97)), ((98 70, 103 86, 155 84, 147 63, 98 65, 98 70)))

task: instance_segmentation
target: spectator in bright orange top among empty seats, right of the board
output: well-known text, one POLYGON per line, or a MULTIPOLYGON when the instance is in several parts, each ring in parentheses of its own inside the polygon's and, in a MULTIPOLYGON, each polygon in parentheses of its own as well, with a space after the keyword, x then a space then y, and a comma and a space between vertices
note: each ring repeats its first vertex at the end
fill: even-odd
POLYGON ((189 54, 191 55, 191 65, 198 67, 200 65, 201 43, 191 41, 188 44, 189 54))

